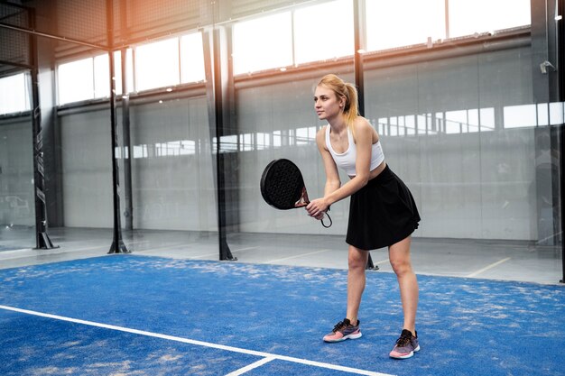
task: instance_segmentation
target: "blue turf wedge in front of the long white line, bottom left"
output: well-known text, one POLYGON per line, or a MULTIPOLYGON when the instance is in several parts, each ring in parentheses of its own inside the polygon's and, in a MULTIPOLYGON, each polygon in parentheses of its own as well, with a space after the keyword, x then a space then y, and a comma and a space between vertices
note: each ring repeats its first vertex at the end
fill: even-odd
POLYGON ((223 375, 261 359, 0 311, 0 374, 223 375))

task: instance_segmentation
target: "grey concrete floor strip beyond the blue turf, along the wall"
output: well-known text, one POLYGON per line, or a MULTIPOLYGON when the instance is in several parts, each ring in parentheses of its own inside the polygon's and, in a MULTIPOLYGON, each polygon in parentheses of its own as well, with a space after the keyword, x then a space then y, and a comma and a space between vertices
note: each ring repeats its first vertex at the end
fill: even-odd
MULTIPOLYGON (((0 269, 39 263, 107 256, 109 229, 53 228, 57 248, 37 250, 33 228, 0 229, 0 269)), ((124 231, 134 254, 218 261, 218 235, 181 231, 124 231)), ((228 234, 236 262, 347 269, 347 244, 342 236, 297 234, 228 234)), ((392 272, 386 249, 371 251, 378 271, 392 272)), ((527 242, 455 239, 412 239, 412 265, 417 274, 516 280, 560 284, 560 246, 527 242)))

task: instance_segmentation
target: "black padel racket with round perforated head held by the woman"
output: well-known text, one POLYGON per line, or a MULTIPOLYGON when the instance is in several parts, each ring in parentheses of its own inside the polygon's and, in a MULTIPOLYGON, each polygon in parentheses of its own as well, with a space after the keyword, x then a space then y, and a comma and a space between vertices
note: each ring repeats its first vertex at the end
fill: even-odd
MULTIPOLYGON (((267 204, 281 210, 310 204, 301 170, 291 160, 273 160, 267 165, 261 177, 261 195, 267 204)), ((328 216, 329 225, 323 218, 321 225, 328 228, 332 221, 328 213, 325 216, 328 216)))

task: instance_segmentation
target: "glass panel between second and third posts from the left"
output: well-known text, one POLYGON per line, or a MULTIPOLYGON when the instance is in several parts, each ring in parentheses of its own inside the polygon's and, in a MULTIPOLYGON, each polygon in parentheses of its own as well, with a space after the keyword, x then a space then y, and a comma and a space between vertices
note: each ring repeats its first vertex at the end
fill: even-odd
MULTIPOLYGON (((123 109, 121 110, 123 111, 123 109)), ((215 155, 205 97, 155 100, 129 109, 132 210, 125 244, 137 253, 218 260, 215 155), (131 230, 131 231, 130 231, 131 230)), ((121 179, 121 206, 127 188, 121 179)))

